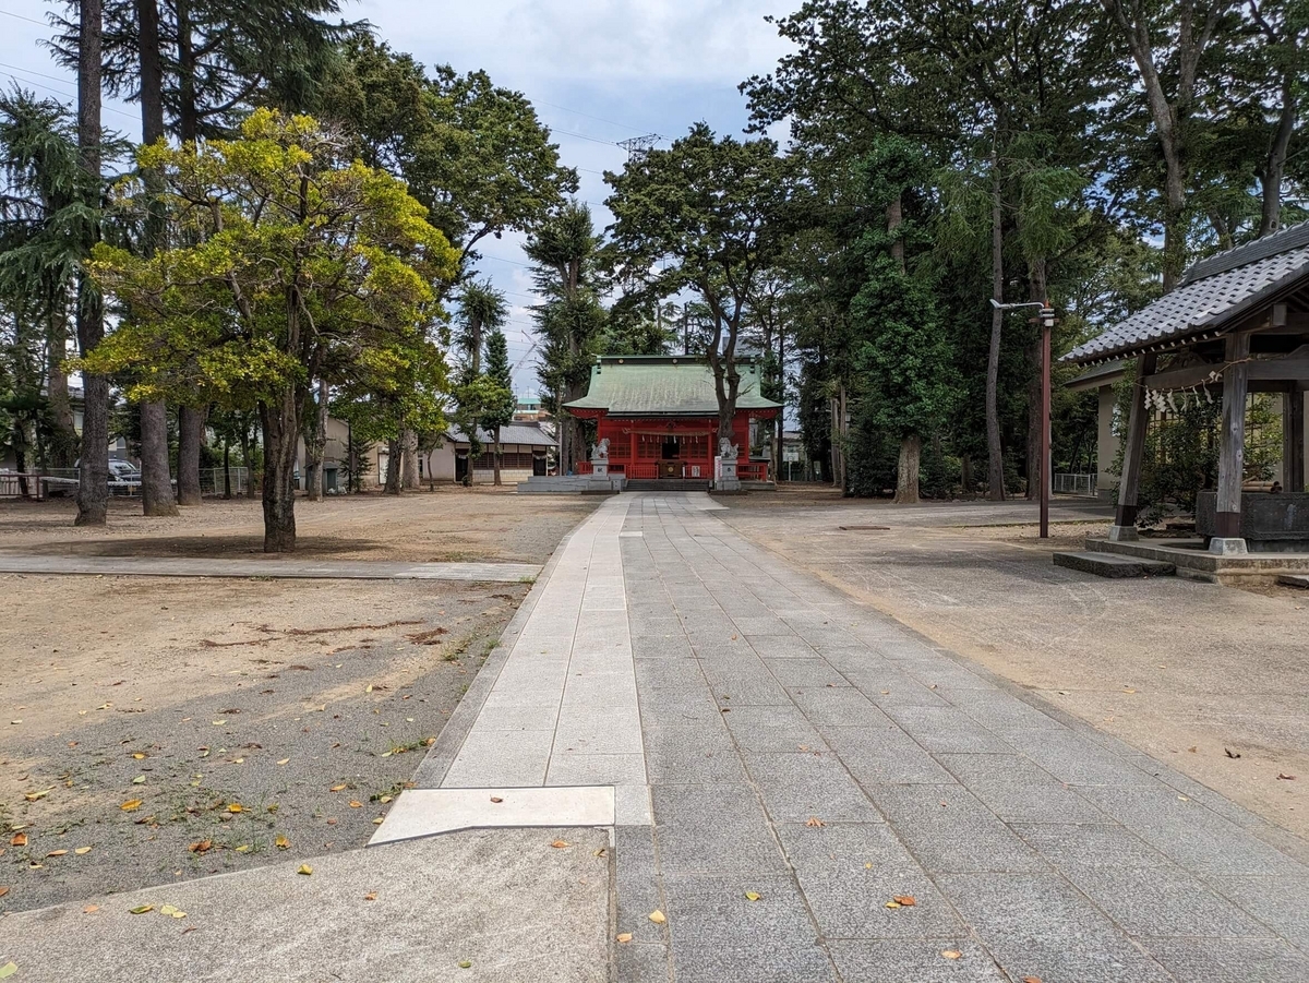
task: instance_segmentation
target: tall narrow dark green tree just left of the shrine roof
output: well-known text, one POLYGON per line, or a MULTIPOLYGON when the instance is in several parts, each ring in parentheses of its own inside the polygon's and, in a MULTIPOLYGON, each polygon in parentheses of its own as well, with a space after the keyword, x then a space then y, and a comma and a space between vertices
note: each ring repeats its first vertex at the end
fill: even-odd
POLYGON ((606 325, 600 236, 590 209, 580 202, 564 204, 533 228, 524 251, 546 297, 533 314, 542 339, 542 402, 559 421, 559 469, 572 471, 586 459, 586 448, 577 419, 563 407, 585 395, 606 325))

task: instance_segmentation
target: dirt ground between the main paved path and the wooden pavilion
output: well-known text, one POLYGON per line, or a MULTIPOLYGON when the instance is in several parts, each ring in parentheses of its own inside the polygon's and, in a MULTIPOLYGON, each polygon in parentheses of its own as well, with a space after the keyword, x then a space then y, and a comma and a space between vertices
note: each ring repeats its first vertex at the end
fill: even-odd
POLYGON ((792 488, 724 503, 716 514, 761 546, 1289 830, 1309 856, 1309 592, 1058 568, 1054 551, 1105 529, 1085 501, 1056 501, 1049 541, 1021 501, 903 508, 792 488))

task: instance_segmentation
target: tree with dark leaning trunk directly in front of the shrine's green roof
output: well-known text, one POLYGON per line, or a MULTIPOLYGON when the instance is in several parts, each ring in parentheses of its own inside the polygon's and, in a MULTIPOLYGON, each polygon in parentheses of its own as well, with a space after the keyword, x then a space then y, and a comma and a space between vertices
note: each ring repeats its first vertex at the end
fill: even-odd
POLYGON ((719 438, 732 438, 741 385, 737 344, 750 298, 780 242, 787 165, 772 140, 719 139, 698 123, 666 151, 606 171, 614 247, 632 270, 654 270, 651 292, 694 291, 708 305, 719 438))

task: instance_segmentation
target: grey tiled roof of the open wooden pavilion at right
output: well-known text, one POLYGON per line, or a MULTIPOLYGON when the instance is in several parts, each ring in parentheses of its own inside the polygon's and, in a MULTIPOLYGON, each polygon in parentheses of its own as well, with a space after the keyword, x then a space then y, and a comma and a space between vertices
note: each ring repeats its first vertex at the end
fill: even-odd
POLYGON ((1309 223, 1301 223, 1200 260, 1172 293, 1073 348, 1063 360, 1089 363, 1126 356, 1160 342, 1225 327, 1306 275, 1309 223))

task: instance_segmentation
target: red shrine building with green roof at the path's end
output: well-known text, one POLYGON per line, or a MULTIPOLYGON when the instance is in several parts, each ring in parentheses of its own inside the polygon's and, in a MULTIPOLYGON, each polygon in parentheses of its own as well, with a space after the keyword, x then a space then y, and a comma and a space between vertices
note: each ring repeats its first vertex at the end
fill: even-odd
MULTIPOLYGON (((741 385, 732 424, 740 448, 737 474, 745 482, 767 482, 768 461, 751 459, 753 424, 772 420, 781 403, 761 394, 759 366, 737 363, 741 385)), ((602 355, 590 370, 586 395, 564 408, 596 420, 596 440, 609 438, 609 471, 628 480, 709 480, 719 453, 719 401, 713 369, 686 355, 602 355)), ((583 467, 584 473, 589 466, 583 467)))

